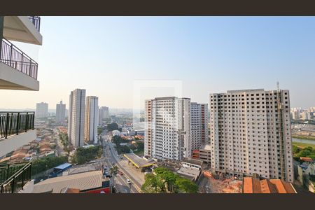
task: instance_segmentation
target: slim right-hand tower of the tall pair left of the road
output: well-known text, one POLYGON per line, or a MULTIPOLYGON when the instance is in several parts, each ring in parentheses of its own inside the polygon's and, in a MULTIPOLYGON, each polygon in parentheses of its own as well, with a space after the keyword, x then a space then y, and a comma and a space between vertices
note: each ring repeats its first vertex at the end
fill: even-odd
POLYGON ((99 125, 99 98, 88 96, 85 109, 85 141, 93 141, 97 144, 97 125, 99 125))

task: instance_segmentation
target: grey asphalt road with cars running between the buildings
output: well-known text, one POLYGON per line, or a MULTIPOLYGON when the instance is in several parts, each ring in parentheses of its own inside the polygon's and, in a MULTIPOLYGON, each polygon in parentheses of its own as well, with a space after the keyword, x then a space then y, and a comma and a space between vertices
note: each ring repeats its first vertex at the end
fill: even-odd
MULTIPOLYGON (((111 142, 109 141, 108 137, 107 136, 104 136, 104 137, 105 138, 102 138, 103 139, 102 141, 103 152, 104 152, 104 158, 102 161, 103 164, 107 165, 107 167, 110 168, 112 164, 115 163, 118 166, 120 172, 123 172, 124 174, 123 176, 120 176, 119 174, 117 174, 117 176, 115 177, 115 186, 117 190, 119 191, 119 193, 129 193, 129 185, 127 183, 127 177, 126 177, 127 175, 132 181, 130 193, 139 193, 139 190, 137 190, 137 188, 134 187, 135 181, 134 179, 132 179, 132 176, 130 176, 130 174, 123 167, 120 167, 118 163, 119 157, 117 156, 117 153, 114 152, 114 148, 111 142)), ((139 188, 139 186, 137 187, 139 188)))

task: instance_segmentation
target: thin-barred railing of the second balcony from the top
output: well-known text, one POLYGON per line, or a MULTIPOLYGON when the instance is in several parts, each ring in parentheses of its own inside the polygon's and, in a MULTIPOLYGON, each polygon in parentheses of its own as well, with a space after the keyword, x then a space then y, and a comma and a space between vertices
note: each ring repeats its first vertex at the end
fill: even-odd
POLYGON ((0 62, 37 80, 38 64, 13 43, 2 39, 0 62))

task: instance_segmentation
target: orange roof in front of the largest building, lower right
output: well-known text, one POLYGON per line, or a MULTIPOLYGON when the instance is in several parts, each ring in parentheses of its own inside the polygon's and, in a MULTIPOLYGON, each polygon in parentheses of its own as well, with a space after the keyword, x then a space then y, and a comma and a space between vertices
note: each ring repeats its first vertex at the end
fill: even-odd
POLYGON ((296 193, 292 184, 280 179, 244 177, 243 193, 296 193))

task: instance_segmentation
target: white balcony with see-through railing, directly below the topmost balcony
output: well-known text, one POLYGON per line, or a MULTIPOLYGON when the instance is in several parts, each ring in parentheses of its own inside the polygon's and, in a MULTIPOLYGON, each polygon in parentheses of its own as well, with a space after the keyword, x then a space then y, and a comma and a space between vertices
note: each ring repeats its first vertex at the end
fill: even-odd
POLYGON ((0 52, 0 89, 39 90, 38 64, 22 50, 2 39, 0 52))

